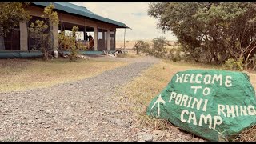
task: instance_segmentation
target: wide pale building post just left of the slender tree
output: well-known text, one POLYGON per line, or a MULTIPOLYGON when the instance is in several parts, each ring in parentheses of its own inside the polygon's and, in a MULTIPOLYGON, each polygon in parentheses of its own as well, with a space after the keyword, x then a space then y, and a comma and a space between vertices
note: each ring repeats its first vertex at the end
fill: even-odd
POLYGON ((27 51, 28 50, 28 32, 27 32, 27 24, 26 21, 19 22, 19 30, 20 30, 20 50, 27 51))

